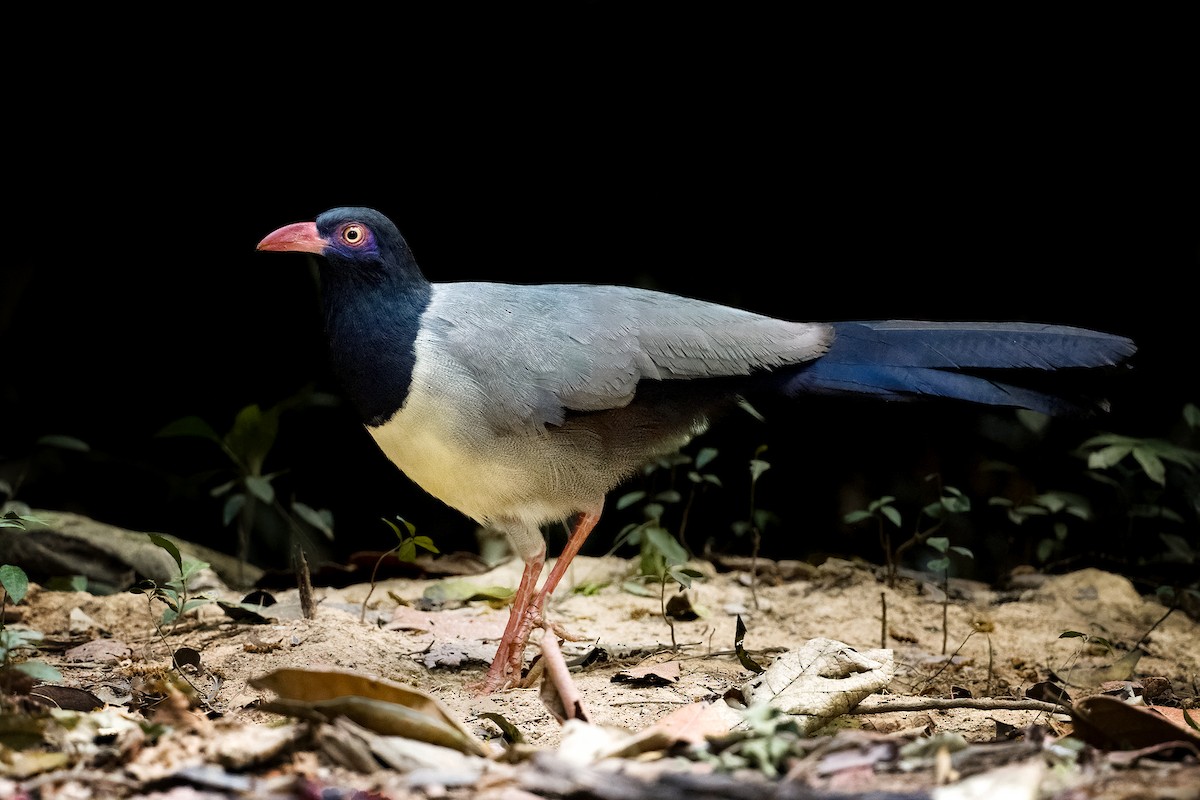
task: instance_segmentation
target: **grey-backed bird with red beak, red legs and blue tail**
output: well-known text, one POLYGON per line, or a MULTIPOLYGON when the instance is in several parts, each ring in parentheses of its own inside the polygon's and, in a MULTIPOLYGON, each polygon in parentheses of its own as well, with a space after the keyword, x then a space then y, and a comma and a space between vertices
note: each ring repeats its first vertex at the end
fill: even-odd
POLYGON ((1103 399, 1021 375, 1128 366, 1127 337, 1028 321, 792 321, 660 290, 431 282, 396 224, 342 206, 257 251, 318 257, 329 363, 386 457, 523 560, 480 694, 516 685, 606 495, 755 398, 943 398, 1048 415, 1103 399), (545 582, 545 525, 570 534, 545 582))

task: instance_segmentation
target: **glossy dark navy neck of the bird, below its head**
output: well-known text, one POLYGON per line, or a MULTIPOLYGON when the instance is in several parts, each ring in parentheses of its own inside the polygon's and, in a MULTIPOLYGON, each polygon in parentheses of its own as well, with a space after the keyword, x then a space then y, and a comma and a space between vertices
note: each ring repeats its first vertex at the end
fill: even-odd
POLYGON ((404 404, 414 344, 432 287, 425 281, 324 282, 325 331, 337 380, 365 425, 404 404))

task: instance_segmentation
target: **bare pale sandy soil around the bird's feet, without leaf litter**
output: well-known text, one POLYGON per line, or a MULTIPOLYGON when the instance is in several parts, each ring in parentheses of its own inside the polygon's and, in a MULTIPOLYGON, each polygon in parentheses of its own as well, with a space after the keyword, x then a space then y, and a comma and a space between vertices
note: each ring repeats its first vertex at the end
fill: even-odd
MULTIPOLYGON (((103 527, 100 529, 106 539, 113 539, 103 527)), ((1128 691, 1129 686, 1164 679, 1165 690, 1162 681, 1157 684, 1157 691, 1162 692, 1158 697, 1178 705, 1195 698, 1200 682, 1196 644, 1200 625, 1182 612, 1163 619, 1166 609, 1162 604, 1139 596, 1129 581, 1111 573, 1091 570, 1062 576, 1031 573, 1006 588, 952 583, 946 604, 936 583, 919 576, 902 576, 895 588, 889 588, 872 565, 827 561, 812 567, 763 563, 754 582, 746 569, 719 571, 707 563, 695 566, 703 572, 686 593, 695 618, 668 624, 659 596, 641 596, 623 588, 636 571, 634 563, 578 558, 571 565, 552 599, 548 616, 587 637, 564 642, 562 648, 568 661, 593 656, 587 666, 571 673, 593 726, 630 734, 643 732, 674 710, 697 703, 721 703, 731 690, 744 686, 755 675, 734 654, 739 618, 745 625, 745 651, 763 666, 815 637, 859 650, 892 650, 894 675, 886 690, 864 700, 863 708, 894 699, 913 700, 917 706, 853 714, 838 723, 839 728, 872 735, 956 733, 968 742, 990 742, 1003 738, 1004 730, 1034 726, 1069 729, 1067 717, 1044 710, 919 705, 930 698, 1018 699, 1025 698, 1034 685, 1057 679, 1078 699, 1104 687, 1120 694, 1121 684, 1104 685, 1106 680, 1128 679, 1132 681, 1124 684, 1128 691), (582 588, 588 591, 581 591, 582 588), (1067 631, 1086 637, 1063 638, 1067 631), (1100 640, 1110 643, 1112 650, 1100 640), (1140 660, 1129 657, 1134 645, 1144 650, 1140 660), (678 664, 678 676, 670 682, 614 681, 614 675, 623 670, 668 662, 678 664)), ((551 714, 538 687, 482 697, 470 690, 482 678, 496 650, 508 609, 486 600, 430 601, 439 590, 452 595, 446 590, 461 589, 461 582, 480 589, 514 588, 520 570, 518 561, 509 561, 469 577, 390 578, 373 588, 367 583, 318 588, 313 619, 301 615, 295 591, 276 595, 277 602, 264 609, 266 624, 236 622, 216 604, 204 604, 194 616, 161 630, 155 619, 163 607, 151 603, 145 595, 95 596, 34 587, 22 603, 19 620, 12 624, 43 632, 47 640, 38 657, 62 673, 64 685, 92 693, 110 709, 136 705, 139 681, 156 669, 166 670, 172 654, 180 648, 194 649, 199 664, 190 667, 187 673, 203 699, 187 711, 196 724, 184 726, 194 730, 211 734, 214 726, 264 735, 278 730, 287 717, 263 710, 262 702, 270 699, 271 692, 257 688, 251 681, 281 668, 334 669, 426 692, 491 752, 504 750, 498 722, 503 718, 523 735, 526 752, 565 753, 568 728, 551 714), (76 649, 89 643, 100 649, 76 649)), ((210 575, 209 581, 205 589, 209 595, 229 601, 241 599, 241 593, 227 589, 217 576, 210 575)), ((668 596, 677 594, 673 589, 668 596)), ((469 591, 466 594, 469 597, 469 591)), ((528 656, 536 650, 530 645, 528 656)), ((155 747, 169 746, 168 742, 166 736, 155 747)), ((181 753, 186 750, 180 745, 181 753)), ((330 765, 328 756, 328 751, 308 752, 311 760, 305 762, 304 753, 293 753, 287 769, 295 770, 298 764, 307 763, 326 780, 342 775, 343 786, 356 784, 364 790, 396 796, 385 792, 378 775, 370 777, 360 770, 352 781, 346 775, 354 770, 347 771, 344 763, 330 765)), ((197 762, 193 765, 205 760, 203 748, 193 750, 191 759, 197 762)), ((188 758, 180 754, 175 760, 188 758)), ((1200 777, 1194 758, 1175 766, 1189 778, 1200 777)), ((284 768, 277 759, 271 769, 284 768)), ((128 772, 125 775, 128 781, 128 772)), ((136 775, 145 780, 143 774, 136 775)), ((88 786, 85 780, 77 783, 88 786)), ((1175 778, 1163 786, 1168 783, 1175 786, 1175 778)), ((1178 786, 1187 783, 1184 780, 1178 786)), ((10 782, 8 787, 25 787, 26 794, 18 796, 52 796, 48 790, 29 793, 34 784, 36 781, 10 782)), ((0 795, 4 786, 0 782, 0 795)), ((872 788, 882 786, 875 783, 872 788)), ((517 788, 510 786, 509 790, 517 788)), ((924 788, 931 788, 929 780, 924 788)), ((442 784, 440 793, 449 790, 442 784)), ((552 792, 530 793, 529 786, 521 790, 524 794, 511 796, 562 796, 552 792)), ((80 788, 72 795, 53 796, 106 796, 98 790, 88 792, 80 788)), ((420 796, 439 793, 430 790, 427 784, 424 792, 420 796)), ((142 795, 128 788, 108 796, 142 795)), ((510 795, 499 792, 496 796, 510 795)), ((577 796, 604 795, 592 789, 592 794, 577 790, 577 796)), ((1043 792, 1040 796, 1049 795, 1043 792)), ((1078 796, 1134 795, 1097 792, 1078 796)), ((1180 789, 1178 794, 1172 790, 1153 796, 1196 795, 1180 789)))

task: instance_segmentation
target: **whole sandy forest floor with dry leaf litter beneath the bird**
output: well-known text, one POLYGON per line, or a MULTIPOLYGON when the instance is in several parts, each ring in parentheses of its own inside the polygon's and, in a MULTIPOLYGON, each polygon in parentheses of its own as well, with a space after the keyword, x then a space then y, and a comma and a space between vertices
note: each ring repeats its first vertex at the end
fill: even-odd
MULTIPOLYGON (((38 513, 72 536, 116 539, 100 523, 38 513)), ((0 796, 946 800, 992 796, 990 782, 1015 792, 1006 798, 1200 796, 1200 732, 1180 710, 1198 693, 1200 625, 1121 576, 952 581, 947 596, 932 576, 893 587, 880 567, 848 561, 758 561, 754 579, 748 560, 694 566, 702 577, 668 619, 662 602, 683 600, 679 587, 635 594, 635 561, 572 563, 547 609, 586 637, 560 646, 568 662, 584 661, 570 673, 583 720, 569 722, 540 681, 472 688, 508 619, 487 599, 516 585, 518 561, 318 587, 312 618, 296 591, 281 591, 250 621, 202 602, 162 625, 164 606, 144 594, 31 585, 7 626, 41 632, 36 657, 74 693, 11 687, 0 796), (882 682, 830 718, 775 717, 757 729, 760 750, 744 734, 738 744, 736 700, 756 678, 738 650, 768 667, 814 640, 865 660, 841 678, 882 682), (296 692, 294 705, 271 706, 280 686, 296 692), (371 712, 329 703, 364 686, 377 699, 397 686, 422 698, 430 726, 382 700, 371 712), (1048 687, 1074 711, 1051 710, 1048 687), (47 716, 46 705, 61 709, 47 716), (787 718, 820 724, 796 734, 787 718), (428 744, 448 729, 470 741, 428 744)), ((197 591, 241 600, 206 577, 197 591)))

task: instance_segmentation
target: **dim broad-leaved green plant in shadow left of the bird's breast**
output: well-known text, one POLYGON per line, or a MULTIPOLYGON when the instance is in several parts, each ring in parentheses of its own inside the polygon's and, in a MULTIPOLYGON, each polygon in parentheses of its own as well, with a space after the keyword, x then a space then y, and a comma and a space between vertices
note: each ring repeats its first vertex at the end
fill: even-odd
POLYGON ((317 511, 298 500, 283 504, 276 493, 275 480, 286 470, 266 473, 268 456, 275 446, 280 432, 280 421, 284 411, 304 403, 324 404, 324 396, 314 396, 302 390, 276 405, 262 409, 251 404, 238 411, 233 425, 224 433, 217 432, 198 416, 187 416, 162 428, 158 437, 196 437, 216 444, 229 459, 234 476, 216 486, 212 497, 224 497, 222 521, 226 525, 236 522, 239 557, 246 560, 250 552, 252 531, 269 530, 260 510, 266 509, 284 522, 290 533, 292 543, 300 543, 305 549, 316 549, 313 531, 331 540, 332 516, 328 511, 317 511))

